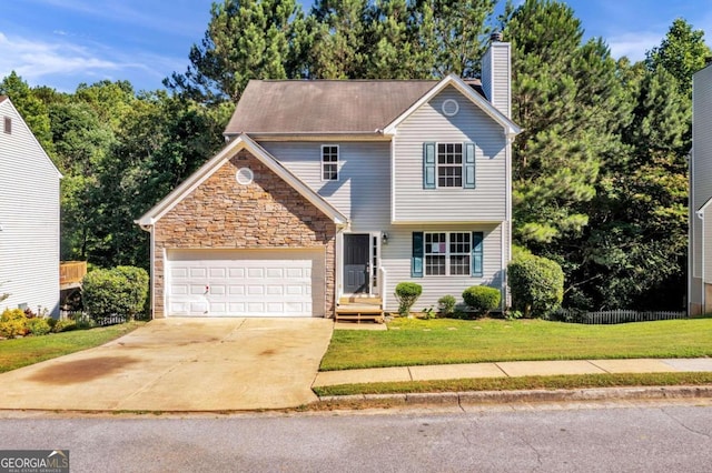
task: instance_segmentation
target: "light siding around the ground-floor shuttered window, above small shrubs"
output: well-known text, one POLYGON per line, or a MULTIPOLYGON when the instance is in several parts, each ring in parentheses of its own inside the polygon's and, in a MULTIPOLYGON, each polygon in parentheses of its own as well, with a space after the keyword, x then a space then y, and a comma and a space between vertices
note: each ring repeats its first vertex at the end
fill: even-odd
MULTIPOLYGON (((380 264, 386 270, 386 290, 384 308, 389 312, 397 312, 398 302, 395 299, 395 288, 399 282, 412 281, 423 286, 423 294, 413 308, 419 311, 433 305, 437 309, 437 300, 451 294, 462 303, 462 293, 472 285, 490 285, 503 291, 505 295, 505 268, 502 264, 502 239, 506 229, 503 224, 468 224, 468 225, 395 225, 390 228, 388 244, 382 248, 380 264), (413 255, 413 232, 484 232, 483 242, 483 274, 482 278, 473 276, 428 276, 411 278, 411 259, 413 255)), ((508 244, 505 244, 508 251, 508 244)), ((506 263, 505 263, 506 264, 506 263)))

